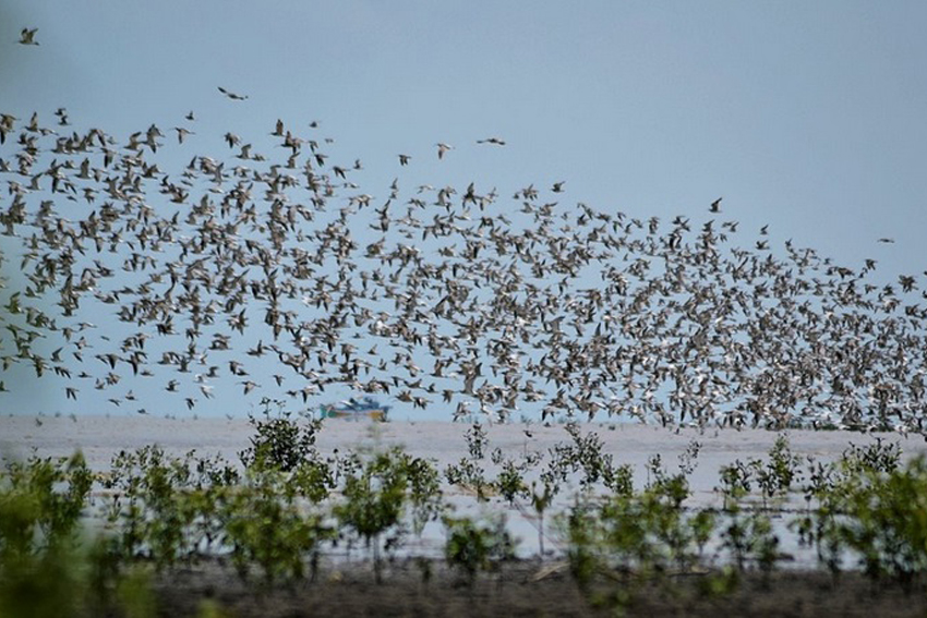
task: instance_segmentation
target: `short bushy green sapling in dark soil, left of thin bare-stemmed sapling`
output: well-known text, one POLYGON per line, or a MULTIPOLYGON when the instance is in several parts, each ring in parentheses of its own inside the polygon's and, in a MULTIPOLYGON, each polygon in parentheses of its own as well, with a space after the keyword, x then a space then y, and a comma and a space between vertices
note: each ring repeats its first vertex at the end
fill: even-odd
POLYGON ((447 564, 467 575, 472 586, 480 571, 496 571, 505 560, 515 557, 516 541, 505 528, 505 517, 473 521, 471 518, 444 518, 447 564))

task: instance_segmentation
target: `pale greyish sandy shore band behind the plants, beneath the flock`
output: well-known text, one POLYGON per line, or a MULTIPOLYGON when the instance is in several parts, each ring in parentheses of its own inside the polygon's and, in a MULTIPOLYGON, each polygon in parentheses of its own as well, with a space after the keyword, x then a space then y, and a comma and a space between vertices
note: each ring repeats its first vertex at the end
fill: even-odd
MULTIPOLYGON (((629 463, 636 471, 653 455, 660 455, 671 471, 678 456, 696 440, 701 446, 698 468, 693 476, 696 492, 712 490, 719 466, 735 459, 763 457, 772 447, 776 432, 765 429, 679 429, 678 432, 646 425, 586 424, 583 433, 595 432, 603 451, 615 463, 629 463), (710 482, 708 486, 706 483, 710 482)), ((446 422, 366 423, 329 420, 323 425, 317 446, 324 453, 345 451, 361 445, 384 447, 401 445, 411 455, 433 459, 443 468, 467 457, 465 433, 470 425, 446 422)), ((489 449, 502 448, 517 457, 528 451, 546 453, 555 445, 568 441, 562 425, 509 424, 484 425, 489 449), (530 434, 530 437, 529 435, 530 434)), ((246 419, 158 419, 153 416, 2 416, 0 417, 0 453, 25 457, 31 452, 43 457, 71 455, 80 449, 95 470, 106 470, 113 455, 157 444, 167 452, 182 455, 220 455, 238 460, 253 435, 246 419)), ((904 456, 927 453, 927 443, 919 436, 898 434, 859 434, 852 432, 787 432, 792 450, 800 456, 831 460, 851 444, 866 445, 882 439, 898 443, 904 456)), ((641 470, 642 472, 642 470, 641 470)))

